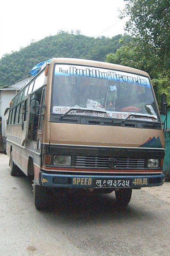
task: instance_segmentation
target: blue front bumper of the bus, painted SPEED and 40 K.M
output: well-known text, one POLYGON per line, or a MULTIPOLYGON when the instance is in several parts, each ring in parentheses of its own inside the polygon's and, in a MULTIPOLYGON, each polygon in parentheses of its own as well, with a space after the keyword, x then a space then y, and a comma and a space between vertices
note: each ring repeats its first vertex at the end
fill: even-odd
MULTIPOLYGON (((39 184, 45 187, 56 187, 56 188, 96 188, 96 180, 107 180, 107 188, 123 188, 124 182, 130 181, 130 188, 144 188, 144 187, 155 187, 163 185, 165 175, 119 175, 119 176, 108 176, 108 175, 65 175, 65 174, 51 174, 51 173, 39 173, 39 184), (112 182, 108 182, 112 181, 112 182), (116 182, 115 182, 116 181, 116 182), (118 182, 121 181, 121 182, 118 182), (115 185, 116 184, 116 185, 115 185), (121 184, 119 186, 119 184, 121 184)), ((126 182, 127 183, 127 182, 126 182)), ((101 184, 101 183, 100 183, 101 184)), ((99 186, 100 187, 100 186, 99 186)), ((126 187, 127 184, 126 184, 126 187)), ((104 188, 104 187, 102 187, 104 188)))

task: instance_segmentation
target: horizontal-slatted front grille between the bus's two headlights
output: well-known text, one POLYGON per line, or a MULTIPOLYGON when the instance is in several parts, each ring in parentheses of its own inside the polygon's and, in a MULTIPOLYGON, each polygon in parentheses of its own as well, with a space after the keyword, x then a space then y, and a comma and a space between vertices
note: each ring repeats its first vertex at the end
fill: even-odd
POLYGON ((77 156, 76 167, 103 169, 143 169, 144 159, 77 156))

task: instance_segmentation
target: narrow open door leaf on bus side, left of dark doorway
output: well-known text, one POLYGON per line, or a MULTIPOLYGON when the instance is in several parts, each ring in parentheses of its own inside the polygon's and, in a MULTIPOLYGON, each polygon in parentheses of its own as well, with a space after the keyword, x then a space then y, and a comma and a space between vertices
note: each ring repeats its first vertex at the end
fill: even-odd
POLYGON ((28 139, 29 132, 29 122, 30 122, 30 94, 24 100, 23 113, 22 113, 22 137, 21 145, 24 146, 26 140, 28 139))

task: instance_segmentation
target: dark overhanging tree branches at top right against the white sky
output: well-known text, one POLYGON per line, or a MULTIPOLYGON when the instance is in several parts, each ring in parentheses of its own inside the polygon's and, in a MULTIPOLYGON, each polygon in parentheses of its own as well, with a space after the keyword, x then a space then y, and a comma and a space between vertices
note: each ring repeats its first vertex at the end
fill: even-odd
POLYGON ((170 57, 169 0, 124 0, 121 17, 128 16, 126 30, 140 42, 139 50, 155 59, 156 68, 167 74, 170 57))

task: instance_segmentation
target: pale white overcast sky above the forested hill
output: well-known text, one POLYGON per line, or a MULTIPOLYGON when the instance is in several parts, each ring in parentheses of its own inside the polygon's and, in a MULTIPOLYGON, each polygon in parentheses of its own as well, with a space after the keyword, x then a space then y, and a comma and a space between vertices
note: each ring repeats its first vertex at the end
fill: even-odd
POLYGON ((119 19, 123 0, 3 0, 0 8, 0 58, 59 30, 89 37, 124 34, 119 19))

